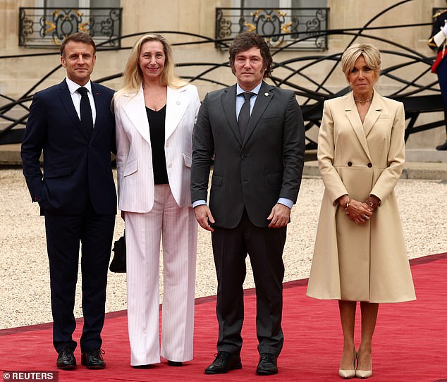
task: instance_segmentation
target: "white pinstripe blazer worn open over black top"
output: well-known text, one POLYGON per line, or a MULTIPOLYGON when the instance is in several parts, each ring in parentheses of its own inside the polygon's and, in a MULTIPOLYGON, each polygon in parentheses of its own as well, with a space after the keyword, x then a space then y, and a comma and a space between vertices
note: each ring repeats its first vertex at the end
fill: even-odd
MULTIPOLYGON (((189 207, 192 129, 200 106, 194 85, 168 87, 164 151, 169 185, 179 207, 189 207)), ((114 99, 118 209, 149 212, 154 204, 154 173, 149 122, 142 87, 114 99)))

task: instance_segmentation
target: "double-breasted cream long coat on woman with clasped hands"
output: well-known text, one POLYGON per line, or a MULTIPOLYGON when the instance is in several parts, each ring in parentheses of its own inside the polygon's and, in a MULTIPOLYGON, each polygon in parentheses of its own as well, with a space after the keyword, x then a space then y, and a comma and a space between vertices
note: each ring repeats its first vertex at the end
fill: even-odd
POLYGON ((374 92, 362 125, 352 92, 324 102, 318 139, 325 190, 307 295, 322 300, 415 300, 394 187, 405 162, 403 104, 374 92), (336 199, 381 199, 358 225, 336 199))

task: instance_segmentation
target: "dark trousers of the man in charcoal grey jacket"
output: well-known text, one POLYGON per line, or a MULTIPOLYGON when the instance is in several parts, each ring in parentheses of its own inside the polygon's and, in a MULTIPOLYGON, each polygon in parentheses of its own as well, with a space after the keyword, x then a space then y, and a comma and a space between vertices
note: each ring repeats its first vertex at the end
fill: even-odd
POLYGON ((217 273, 217 350, 239 354, 244 320, 245 258, 250 257, 256 286, 256 331, 259 353, 279 355, 283 347, 283 249, 286 227, 260 228, 246 212, 235 228, 214 227, 212 245, 217 273))

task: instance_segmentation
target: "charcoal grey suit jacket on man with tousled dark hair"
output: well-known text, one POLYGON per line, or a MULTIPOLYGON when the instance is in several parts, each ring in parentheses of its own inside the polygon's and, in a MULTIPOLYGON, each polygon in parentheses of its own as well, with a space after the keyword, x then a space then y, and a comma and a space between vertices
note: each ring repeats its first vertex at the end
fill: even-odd
POLYGON ((216 223, 234 228, 244 207, 255 226, 267 227, 278 198, 296 202, 305 152, 305 128, 295 94, 262 83, 245 139, 235 112, 236 85, 210 92, 192 136, 191 199, 207 200, 216 223))

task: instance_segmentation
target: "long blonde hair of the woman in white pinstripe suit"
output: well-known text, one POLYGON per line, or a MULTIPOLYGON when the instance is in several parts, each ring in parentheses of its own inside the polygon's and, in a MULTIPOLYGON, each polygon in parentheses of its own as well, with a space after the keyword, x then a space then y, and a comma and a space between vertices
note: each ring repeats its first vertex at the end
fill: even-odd
POLYGON ((173 54, 171 44, 169 41, 161 35, 157 33, 152 33, 150 35, 144 35, 138 39, 138 41, 133 46, 132 51, 130 52, 130 56, 128 58, 128 62, 125 64, 124 72, 123 72, 123 87, 119 90, 119 93, 126 92, 138 92, 142 85, 143 75, 141 72, 140 65, 138 65, 138 61, 140 60, 140 53, 142 45, 148 41, 158 41, 163 45, 163 51, 165 56, 164 68, 160 75, 160 83, 164 86, 170 87, 183 87, 188 84, 183 80, 180 80, 174 74, 174 63, 173 63, 173 54))

